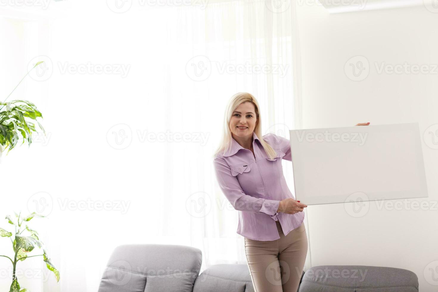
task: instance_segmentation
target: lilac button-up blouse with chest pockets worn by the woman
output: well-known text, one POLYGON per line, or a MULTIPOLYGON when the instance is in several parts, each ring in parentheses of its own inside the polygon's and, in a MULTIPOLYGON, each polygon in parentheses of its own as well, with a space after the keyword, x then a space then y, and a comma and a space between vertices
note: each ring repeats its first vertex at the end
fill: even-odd
POLYGON ((239 211, 237 233, 249 239, 279 239, 276 221, 287 235, 304 221, 304 211, 295 214, 277 212, 279 203, 293 198, 283 175, 282 159, 292 161, 290 141, 276 134, 262 137, 277 152, 268 158, 253 132, 254 155, 231 139, 231 148, 213 160, 216 178, 225 197, 239 211))

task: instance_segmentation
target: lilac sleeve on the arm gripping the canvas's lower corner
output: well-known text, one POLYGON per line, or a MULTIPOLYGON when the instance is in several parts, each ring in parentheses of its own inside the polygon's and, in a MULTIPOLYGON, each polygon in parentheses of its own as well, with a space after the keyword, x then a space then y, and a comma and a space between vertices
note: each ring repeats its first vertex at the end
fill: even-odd
POLYGON ((237 177, 231 175, 230 166, 223 158, 216 157, 213 164, 219 186, 234 209, 261 212, 270 215, 271 218, 276 218, 280 201, 256 198, 245 194, 237 177))

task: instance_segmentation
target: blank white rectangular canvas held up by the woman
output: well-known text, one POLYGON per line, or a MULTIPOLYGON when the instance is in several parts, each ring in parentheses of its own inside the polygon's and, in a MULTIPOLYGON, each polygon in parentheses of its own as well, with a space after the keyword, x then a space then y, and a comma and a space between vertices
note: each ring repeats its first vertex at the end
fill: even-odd
POLYGON ((428 197, 418 123, 290 130, 290 146, 304 204, 428 197))

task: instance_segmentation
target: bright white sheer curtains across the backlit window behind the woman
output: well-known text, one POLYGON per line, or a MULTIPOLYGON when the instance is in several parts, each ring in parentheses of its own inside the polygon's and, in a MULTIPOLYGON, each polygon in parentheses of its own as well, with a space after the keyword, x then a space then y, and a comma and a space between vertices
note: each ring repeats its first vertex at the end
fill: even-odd
MULTIPOLYGON (((35 56, 49 57, 51 76, 26 81, 23 96, 39 106, 50 137, 2 158, 0 174, 12 182, 5 192, 15 197, 1 210, 26 209, 35 193, 52 200, 39 231, 61 275, 59 284, 27 279, 25 288, 95 292, 111 251, 126 243, 197 247, 201 272, 246 264, 238 212, 217 186, 212 154, 226 102, 238 91, 258 99, 263 134, 289 138, 288 130, 300 128, 295 3, 133 1, 114 13, 104 2, 66 1, 49 32, 32 34, 33 44, 35 35, 49 40, 17 58, 23 69, 35 56), (106 65, 109 73, 95 70, 106 65), (129 68, 124 76, 118 65, 129 68), (38 169, 17 191, 21 178, 8 169, 29 159, 38 159, 38 169)), ((291 162, 283 168, 293 192, 291 162)), ((308 232, 307 214, 305 224, 308 232)))

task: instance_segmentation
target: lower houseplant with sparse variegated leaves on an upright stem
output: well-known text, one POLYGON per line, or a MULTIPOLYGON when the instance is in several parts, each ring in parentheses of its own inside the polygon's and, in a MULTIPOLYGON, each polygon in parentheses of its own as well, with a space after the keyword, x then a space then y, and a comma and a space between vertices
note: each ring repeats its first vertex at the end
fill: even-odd
POLYGON ((23 223, 29 222, 34 217, 44 217, 44 216, 36 214, 35 212, 33 212, 32 214, 30 214, 26 217, 20 218, 20 215, 21 215, 21 213, 20 214, 15 213, 17 221, 13 220, 11 218, 11 216, 9 216, 9 215, 6 216, 8 223, 15 226, 15 236, 14 236, 15 239, 14 240, 12 240, 12 232, 8 232, 6 229, 0 228, 0 236, 1 237, 9 237, 11 239, 12 247, 14 249, 13 259, 11 257, 5 256, 5 255, 0 255, 0 257, 6 257, 9 260, 11 260, 12 267, 13 267, 12 284, 11 284, 11 289, 9 290, 9 292, 29 292, 28 289, 21 289, 20 290, 20 285, 18 284, 18 280, 17 280, 17 277, 15 275, 15 271, 16 271, 18 262, 23 261, 23 260, 27 259, 28 257, 43 257, 43 260, 46 263, 47 268, 50 271, 53 271, 58 282, 60 279, 59 271, 53 266, 52 262, 50 261, 50 258, 47 256, 46 248, 44 247, 44 244, 39 240, 38 233, 35 230, 30 229, 27 224, 25 226, 23 226, 23 223), (20 219, 21 219, 21 221, 20 221, 20 219), (26 232, 28 235, 26 236, 26 234, 22 234, 23 232, 26 232), (35 246, 38 246, 40 249, 42 249, 43 254, 28 256, 28 253, 31 252, 32 250, 34 250, 35 246))

